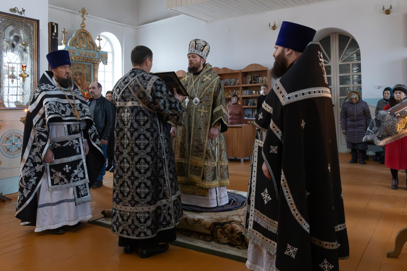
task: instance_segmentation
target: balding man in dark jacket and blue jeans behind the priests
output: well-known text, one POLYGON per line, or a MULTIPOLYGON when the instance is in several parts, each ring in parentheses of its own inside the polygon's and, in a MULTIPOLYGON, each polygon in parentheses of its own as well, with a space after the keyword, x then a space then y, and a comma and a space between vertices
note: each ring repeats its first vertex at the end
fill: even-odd
POLYGON ((102 96, 102 85, 98 82, 94 82, 90 85, 90 93, 92 98, 88 100, 89 110, 96 129, 98 130, 100 141, 103 147, 103 155, 105 156, 105 163, 102 171, 100 172, 93 189, 103 186, 103 176, 106 171, 106 159, 107 159, 107 142, 110 137, 111 130, 114 127, 114 105, 105 97, 102 96))

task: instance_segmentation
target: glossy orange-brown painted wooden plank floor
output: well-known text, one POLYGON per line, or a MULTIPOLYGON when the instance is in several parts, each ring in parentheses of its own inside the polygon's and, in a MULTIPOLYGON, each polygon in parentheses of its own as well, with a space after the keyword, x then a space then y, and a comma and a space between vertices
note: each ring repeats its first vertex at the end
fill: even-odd
MULTIPOLYGON (((407 226, 405 174, 399 173, 400 189, 391 190, 390 171, 373 161, 349 164, 350 155, 340 154, 343 200, 351 257, 340 269, 407 270, 407 249, 399 258, 386 258, 397 232, 407 226)), ((236 160, 237 161, 237 160, 236 160)), ((250 162, 230 162, 229 189, 247 191, 250 162)), ((92 190, 94 218, 111 208, 112 173, 105 186, 92 190)), ((84 223, 81 228, 52 235, 19 226, 15 219, 16 196, 0 202, 0 270, 247 270, 242 262, 176 246, 161 255, 140 259, 118 247, 118 237, 109 229, 84 223)))

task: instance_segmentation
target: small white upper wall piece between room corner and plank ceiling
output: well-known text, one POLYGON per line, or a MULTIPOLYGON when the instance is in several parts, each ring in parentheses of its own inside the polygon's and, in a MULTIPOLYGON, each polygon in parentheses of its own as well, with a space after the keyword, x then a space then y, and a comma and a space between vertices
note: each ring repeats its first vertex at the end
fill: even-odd
POLYGON ((135 0, 135 2, 137 25, 179 15, 177 12, 167 10, 167 1, 165 0, 135 0))

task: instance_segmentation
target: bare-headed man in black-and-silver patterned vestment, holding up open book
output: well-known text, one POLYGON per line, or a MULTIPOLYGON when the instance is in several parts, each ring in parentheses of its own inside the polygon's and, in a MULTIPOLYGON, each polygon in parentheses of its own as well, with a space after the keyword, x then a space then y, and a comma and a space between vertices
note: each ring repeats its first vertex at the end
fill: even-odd
POLYGON ((137 46, 133 69, 113 88, 114 130, 113 208, 111 231, 119 246, 139 257, 163 253, 176 240, 175 226, 183 218, 175 159, 166 123, 182 124, 184 98, 169 91, 150 74, 153 52, 137 46))

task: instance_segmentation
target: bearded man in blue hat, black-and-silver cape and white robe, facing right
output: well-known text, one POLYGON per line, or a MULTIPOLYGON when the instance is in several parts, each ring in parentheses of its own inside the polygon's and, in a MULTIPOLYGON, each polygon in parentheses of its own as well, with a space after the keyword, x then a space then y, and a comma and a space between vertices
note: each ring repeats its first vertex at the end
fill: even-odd
POLYGON ((38 82, 25 121, 16 217, 36 232, 62 234, 92 218, 89 186, 104 157, 88 104, 70 77, 68 51, 47 59, 52 72, 38 82))

